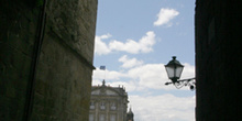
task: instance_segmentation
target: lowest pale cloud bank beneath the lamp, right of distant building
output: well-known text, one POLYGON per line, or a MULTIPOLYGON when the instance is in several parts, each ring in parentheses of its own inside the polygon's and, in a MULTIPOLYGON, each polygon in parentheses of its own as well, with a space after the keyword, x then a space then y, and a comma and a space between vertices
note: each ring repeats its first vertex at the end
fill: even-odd
POLYGON ((135 121, 194 121, 195 98, 161 96, 129 96, 135 121), (145 103, 145 105, 144 105, 145 103))

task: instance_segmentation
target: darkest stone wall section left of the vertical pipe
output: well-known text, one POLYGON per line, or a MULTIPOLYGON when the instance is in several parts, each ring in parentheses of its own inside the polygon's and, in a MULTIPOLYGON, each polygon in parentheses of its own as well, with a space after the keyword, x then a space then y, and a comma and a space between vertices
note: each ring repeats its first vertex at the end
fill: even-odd
POLYGON ((0 1, 0 121, 23 120, 38 13, 34 1, 0 1))

